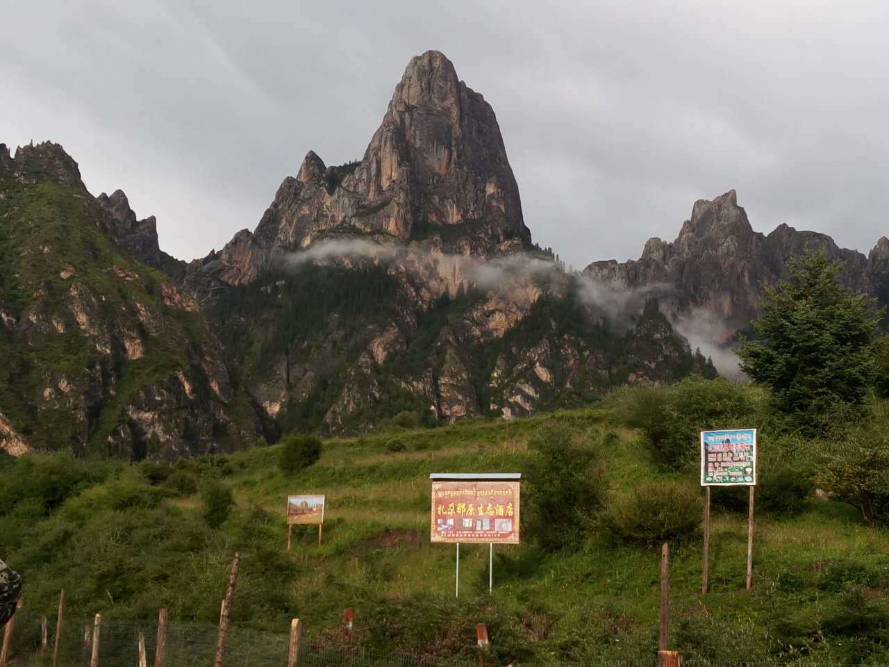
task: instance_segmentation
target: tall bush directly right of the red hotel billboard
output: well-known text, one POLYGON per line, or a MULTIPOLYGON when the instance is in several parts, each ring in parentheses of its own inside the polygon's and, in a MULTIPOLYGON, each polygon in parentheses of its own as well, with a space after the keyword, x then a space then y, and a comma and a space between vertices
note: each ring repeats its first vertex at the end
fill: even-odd
POLYGON ((530 532, 547 551, 575 547, 603 505, 605 479, 596 447, 564 424, 537 430, 528 443, 530 532))

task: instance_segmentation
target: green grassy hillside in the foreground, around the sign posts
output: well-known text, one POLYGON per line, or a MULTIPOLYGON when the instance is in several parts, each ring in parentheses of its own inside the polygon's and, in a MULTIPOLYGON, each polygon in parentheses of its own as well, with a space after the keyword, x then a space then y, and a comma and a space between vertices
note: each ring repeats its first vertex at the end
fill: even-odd
MULTIPOLYGON (((353 640, 375 650, 471 655, 473 624, 486 622, 504 664, 648 657, 658 631, 656 545, 622 542, 603 519, 580 547, 545 554, 525 522, 529 495, 523 544, 494 549, 493 596, 487 546, 465 545, 455 600, 454 548, 428 542, 429 472, 527 472, 529 442, 562 429, 595 449, 605 513, 649 482, 685 487, 700 510, 693 472, 656 460, 618 403, 330 440, 319 462, 289 476, 276 465, 279 446, 174 467, 0 459, 0 553, 25 576, 32 611, 52 608, 64 587, 72 613, 148 620, 167 606, 173 620, 214 623, 240 550, 239 626, 286 631, 299 616, 310 637, 337 642, 342 610, 354 607, 353 640), (197 490, 213 480, 236 501, 219 529, 204 522, 197 490), (323 545, 313 526, 286 552, 288 493, 327 495, 323 545)), ((764 456, 771 442, 764 436, 764 456)), ((813 499, 791 516, 760 508, 749 592, 746 515, 720 509, 732 507, 719 497, 728 493, 714 491, 709 594, 701 595, 700 537, 673 544, 673 645, 711 661, 889 660, 889 533, 838 502, 813 499)))

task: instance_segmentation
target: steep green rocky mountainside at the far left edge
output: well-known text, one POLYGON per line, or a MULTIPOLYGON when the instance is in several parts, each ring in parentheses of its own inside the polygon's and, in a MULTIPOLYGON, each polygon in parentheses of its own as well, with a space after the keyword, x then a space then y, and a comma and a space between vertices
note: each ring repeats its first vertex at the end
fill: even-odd
POLYGON ((0 414, 12 429, 34 449, 134 458, 252 435, 196 304, 116 245, 79 180, 44 164, 76 173, 60 147, 20 154, 18 172, 0 169, 0 414))

